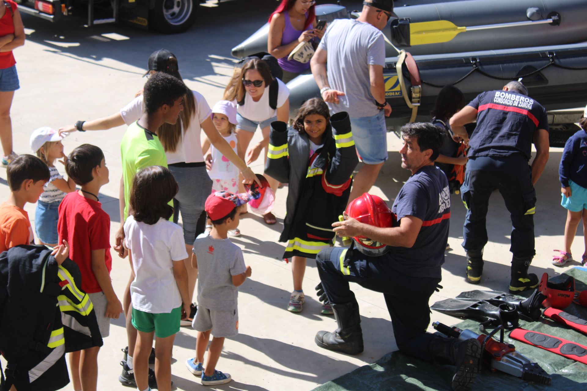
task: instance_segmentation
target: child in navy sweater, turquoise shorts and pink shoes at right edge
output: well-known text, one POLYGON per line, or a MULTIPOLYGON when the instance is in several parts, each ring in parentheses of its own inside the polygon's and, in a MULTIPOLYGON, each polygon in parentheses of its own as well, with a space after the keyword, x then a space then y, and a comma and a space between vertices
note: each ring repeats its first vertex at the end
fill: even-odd
MULTIPOLYGON (((558 169, 561 180, 561 205, 568 210, 565 224, 565 250, 555 250, 559 254, 552 257, 552 264, 565 266, 572 261, 571 244, 577 232, 579 222, 583 220, 583 230, 587 229, 587 107, 579 120, 581 130, 566 141, 562 151, 561 165, 558 169)), ((587 262, 587 235, 582 264, 587 262)))

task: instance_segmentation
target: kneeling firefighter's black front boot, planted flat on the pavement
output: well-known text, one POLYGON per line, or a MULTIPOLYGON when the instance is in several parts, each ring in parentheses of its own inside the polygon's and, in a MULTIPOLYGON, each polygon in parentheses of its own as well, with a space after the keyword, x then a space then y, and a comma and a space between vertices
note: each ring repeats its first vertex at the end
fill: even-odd
POLYGON ((351 301, 346 304, 332 304, 338 328, 333 332, 319 331, 314 341, 316 345, 331 351, 356 355, 363 351, 363 331, 359 304, 351 301))

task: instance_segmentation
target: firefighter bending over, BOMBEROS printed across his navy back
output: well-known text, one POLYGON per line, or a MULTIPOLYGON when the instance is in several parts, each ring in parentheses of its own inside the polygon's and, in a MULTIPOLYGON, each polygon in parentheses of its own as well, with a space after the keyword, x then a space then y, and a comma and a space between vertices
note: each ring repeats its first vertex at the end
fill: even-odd
POLYGON ((483 273, 483 247, 487 243, 485 216, 489 198, 498 189, 512 221, 510 293, 538 286, 536 274, 528 274, 534 257, 534 185, 548 161, 546 110, 528 97, 519 81, 502 90, 479 94, 450 119, 455 141, 468 139, 465 124, 477 120, 471 135, 467 172, 461 197, 467 208, 463 247, 467 252, 467 281, 478 284, 483 273), (536 156, 528 162, 532 142, 536 156))

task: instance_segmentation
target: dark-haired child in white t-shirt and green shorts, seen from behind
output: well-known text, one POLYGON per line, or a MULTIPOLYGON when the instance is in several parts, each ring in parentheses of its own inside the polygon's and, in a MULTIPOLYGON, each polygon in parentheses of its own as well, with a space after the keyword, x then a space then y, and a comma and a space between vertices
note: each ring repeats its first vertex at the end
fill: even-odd
POLYGON ((150 166, 137 172, 124 223, 125 244, 134 271, 130 284, 132 323, 139 335, 134 349, 134 380, 149 389, 149 356, 155 336, 155 376, 161 390, 171 389, 171 351, 180 321, 190 315, 191 298, 183 230, 168 219, 168 202, 177 193, 171 171, 150 166))

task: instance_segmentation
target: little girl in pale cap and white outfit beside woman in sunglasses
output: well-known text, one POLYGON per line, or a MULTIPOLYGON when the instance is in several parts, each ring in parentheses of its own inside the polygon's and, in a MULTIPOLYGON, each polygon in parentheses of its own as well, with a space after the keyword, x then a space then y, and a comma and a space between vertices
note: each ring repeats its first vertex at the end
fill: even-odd
MULTIPOLYGON (((237 106, 228 100, 221 100, 212 108, 212 123, 214 127, 237 152, 237 135, 235 127, 237 125, 237 106)), ((202 153, 205 156, 206 168, 208 175, 212 179, 212 192, 229 191, 238 192, 238 168, 227 157, 222 155, 210 140, 205 138, 202 144, 202 153)), ((208 223, 209 225, 209 223, 208 223)), ((208 229, 208 225, 206 228, 208 229)), ((212 226, 210 225, 210 229, 212 226)), ((240 236, 239 229, 229 230, 231 236, 240 236)))

